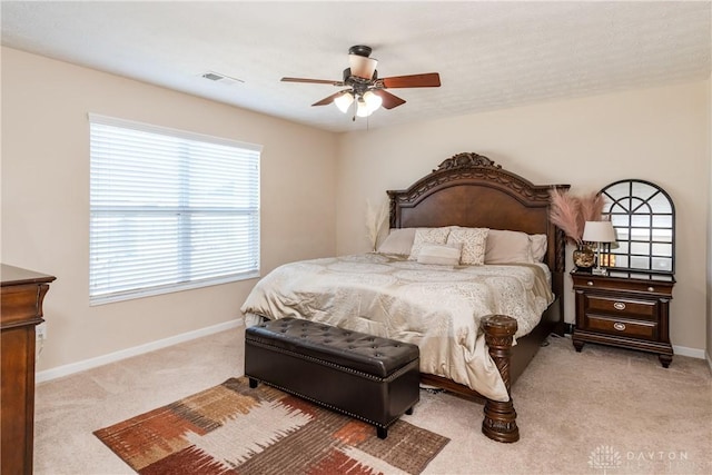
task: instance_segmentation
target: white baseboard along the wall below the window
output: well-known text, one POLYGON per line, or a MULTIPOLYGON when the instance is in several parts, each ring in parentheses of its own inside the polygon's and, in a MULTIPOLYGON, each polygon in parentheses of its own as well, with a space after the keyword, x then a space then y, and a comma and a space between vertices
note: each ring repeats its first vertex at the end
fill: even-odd
POLYGON ((119 352, 109 353, 107 355, 97 356, 96 358, 89 358, 69 365, 58 366, 56 368, 46 369, 34 375, 36 383, 44 383, 51 379, 57 379, 62 376, 69 376, 75 373, 83 372, 87 369, 103 366, 109 363, 115 363, 120 359, 130 358, 131 356, 142 355, 144 353, 154 352, 156 349, 166 348, 179 343, 189 342, 191 339, 200 338, 204 336, 212 335, 219 331, 237 328, 245 325, 243 318, 238 318, 222 324, 212 325, 210 327, 200 328, 197 330, 188 331, 185 334, 171 336, 168 338, 159 339, 156 342, 147 343, 145 345, 135 346, 132 348, 121 349, 119 352))

